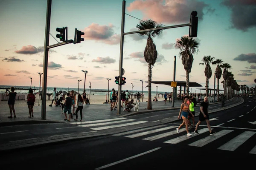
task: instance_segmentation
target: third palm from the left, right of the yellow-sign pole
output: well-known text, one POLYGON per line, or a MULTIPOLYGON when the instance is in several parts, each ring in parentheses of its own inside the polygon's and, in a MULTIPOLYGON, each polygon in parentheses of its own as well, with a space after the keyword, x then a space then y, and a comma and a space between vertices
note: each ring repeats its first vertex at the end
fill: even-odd
POLYGON ((199 65, 205 65, 204 74, 206 77, 206 83, 205 83, 205 91, 206 96, 209 96, 209 79, 212 77, 212 68, 210 64, 213 62, 215 58, 211 56, 204 56, 202 59, 202 62, 199 63, 199 65))

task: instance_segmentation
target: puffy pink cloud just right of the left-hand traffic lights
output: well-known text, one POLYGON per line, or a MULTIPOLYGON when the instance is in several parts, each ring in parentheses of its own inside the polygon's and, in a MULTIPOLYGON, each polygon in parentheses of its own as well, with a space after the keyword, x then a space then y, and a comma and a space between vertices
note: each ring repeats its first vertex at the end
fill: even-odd
POLYGON ((99 24, 92 23, 87 28, 84 28, 84 40, 95 40, 96 42, 103 42, 109 45, 120 43, 120 35, 114 33, 113 25, 99 26, 99 24))

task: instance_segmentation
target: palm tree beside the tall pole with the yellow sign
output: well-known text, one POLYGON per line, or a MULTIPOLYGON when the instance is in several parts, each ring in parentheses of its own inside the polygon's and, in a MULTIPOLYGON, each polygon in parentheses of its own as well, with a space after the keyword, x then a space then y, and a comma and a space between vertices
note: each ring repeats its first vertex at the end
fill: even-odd
POLYGON ((179 57, 181 56, 182 64, 186 71, 186 95, 189 96, 189 73, 191 72, 194 61, 193 54, 198 53, 199 42, 192 37, 183 36, 175 43, 175 48, 179 49, 179 57))

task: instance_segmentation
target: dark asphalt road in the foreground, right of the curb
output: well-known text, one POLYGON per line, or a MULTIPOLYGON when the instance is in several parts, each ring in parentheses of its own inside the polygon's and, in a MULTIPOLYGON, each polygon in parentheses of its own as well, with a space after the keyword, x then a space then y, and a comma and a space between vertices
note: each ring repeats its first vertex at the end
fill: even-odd
POLYGON ((192 136, 187 137, 185 128, 177 134, 176 127, 181 123, 177 120, 111 136, 13 150, 0 154, 0 163, 8 168, 87 170, 251 167, 256 160, 256 125, 250 123, 255 122, 255 113, 256 102, 245 98, 236 108, 210 114, 217 132, 212 136, 205 122, 199 134, 189 130, 192 136))

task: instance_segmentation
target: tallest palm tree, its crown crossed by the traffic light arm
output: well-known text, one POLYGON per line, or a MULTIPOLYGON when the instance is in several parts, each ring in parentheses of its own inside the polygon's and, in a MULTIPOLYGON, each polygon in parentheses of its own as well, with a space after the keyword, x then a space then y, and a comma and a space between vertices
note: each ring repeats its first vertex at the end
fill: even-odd
MULTIPOLYGON (((163 24, 157 24, 153 20, 140 21, 140 24, 136 26, 136 28, 139 28, 140 30, 160 28, 160 27, 163 27, 163 24)), ((157 60, 157 48, 151 37, 156 37, 157 35, 162 34, 162 32, 163 32, 163 29, 138 33, 142 37, 144 35, 148 37, 147 44, 144 50, 144 59, 148 63, 148 110, 152 109, 152 103, 151 103, 152 66, 157 60)))

